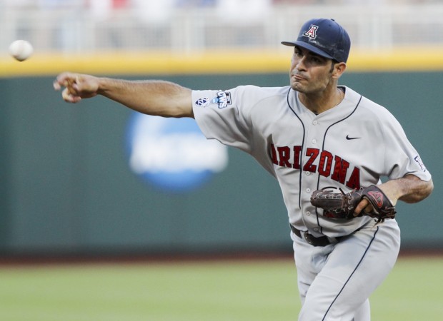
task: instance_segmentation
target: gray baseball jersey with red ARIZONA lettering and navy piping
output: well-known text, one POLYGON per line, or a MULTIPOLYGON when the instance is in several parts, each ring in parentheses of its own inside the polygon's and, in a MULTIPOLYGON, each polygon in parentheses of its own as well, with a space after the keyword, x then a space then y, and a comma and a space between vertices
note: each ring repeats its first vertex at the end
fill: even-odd
POLYGON ((289 86, 193 91, 194 116, 206 138, 251 154, 279 181, 289 222, 314 236, 349 235, 368 223, 325 218, 309 199, 327 186, 354 188, 380 178, 431 175, 386 108, 341 86, 344 100, 316 115, 289 86))

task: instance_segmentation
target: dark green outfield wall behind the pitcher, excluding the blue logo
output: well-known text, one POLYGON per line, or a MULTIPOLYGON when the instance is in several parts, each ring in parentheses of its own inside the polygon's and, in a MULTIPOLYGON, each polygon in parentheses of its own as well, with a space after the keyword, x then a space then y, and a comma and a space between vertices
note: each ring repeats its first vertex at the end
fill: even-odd
MULTIPOLYGON (((163 78, 195 89, 288 83, 280 70, 178 74, 114 76, 163 78)), ((64 103, 52 89, 54 75, 0 78, 1 253, 291 250, 277 182, 250 156, 229 148, 227 168, 201 188, 165 193, 129 169, 132 112, 102 97, 64 103)), ((398 204, 403 248, 443 248, 443 71, 356 70, 341 83, 386 106, 433 175, 429 198, 398 204)))

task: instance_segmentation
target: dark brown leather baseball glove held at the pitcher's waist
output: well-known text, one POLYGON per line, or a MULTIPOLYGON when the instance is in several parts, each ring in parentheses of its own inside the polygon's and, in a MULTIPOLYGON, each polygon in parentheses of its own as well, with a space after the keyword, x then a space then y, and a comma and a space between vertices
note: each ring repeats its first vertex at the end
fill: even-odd
POLYGON ((327 218, 351 220, 357 216, 369 215, 377 218, 377 223, 379 223, 385 218, 394 218, 396 213, 394 205, 376 185, 352 190, 349 193, 344 193, 341 188, 333 187, 315 190, 311 195, 311 204, 317 208, 323 208, 323 216, 327 218), (339 193, 334 190, 339 190, 339 193), (355 215, 354 210, 363 198, 369 201, 373 210, 370 213, 363 210, 359 215, 355 215))

